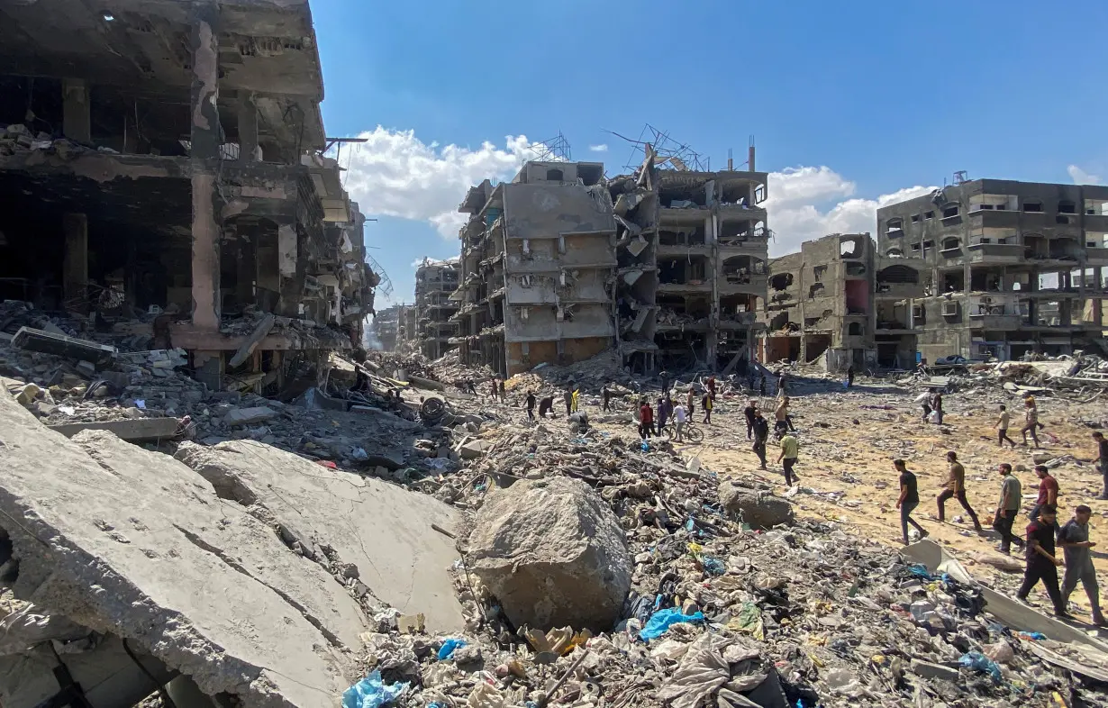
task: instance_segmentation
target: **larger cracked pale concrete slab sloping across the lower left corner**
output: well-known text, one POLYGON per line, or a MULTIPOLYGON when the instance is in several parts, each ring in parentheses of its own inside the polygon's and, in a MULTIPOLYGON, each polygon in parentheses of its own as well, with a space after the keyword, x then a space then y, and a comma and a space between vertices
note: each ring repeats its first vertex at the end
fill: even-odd
POLYGON ((0 394, 0 469, 17 597, 247 708, 330 705, 359 678, 357 601, 186 465, 104 431, 68 440, 0 394))

